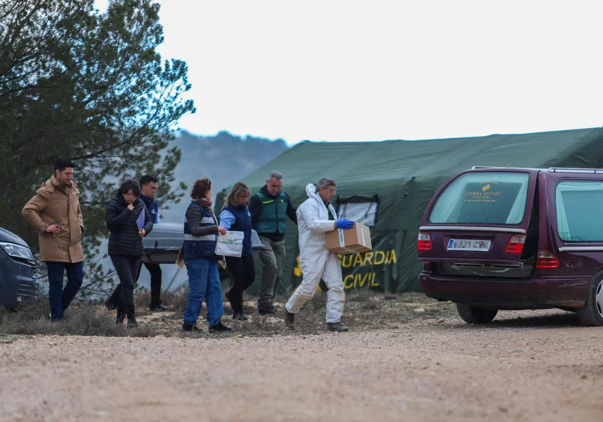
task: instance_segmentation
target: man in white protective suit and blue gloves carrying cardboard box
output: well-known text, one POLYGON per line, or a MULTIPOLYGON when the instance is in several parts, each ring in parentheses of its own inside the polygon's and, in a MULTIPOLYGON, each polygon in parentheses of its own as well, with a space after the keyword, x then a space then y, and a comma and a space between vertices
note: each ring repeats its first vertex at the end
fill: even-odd
POLYGON ((301 285, 285 304, 285 324, 295 328, 295 313, 314 296, 322 278, 327 284, 327 329, 343 332, 347 327, 341 324, 343 304, 346 300, 341 264, 335 252, 327 250, 325 234, 335 228, 352 228, 354 222, 337 219, 330 201, 335 198, 335 181, 321 178, 316 187, 306 186, 308 199, 297 209, 297 230, 299 231, 300 264, 303 279, 301 285))

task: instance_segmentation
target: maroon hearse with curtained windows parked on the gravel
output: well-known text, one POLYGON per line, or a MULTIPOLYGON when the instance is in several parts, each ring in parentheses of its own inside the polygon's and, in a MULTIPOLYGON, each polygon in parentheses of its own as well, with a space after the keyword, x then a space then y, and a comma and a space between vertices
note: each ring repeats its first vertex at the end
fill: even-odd
POLYGON ((467 323, 557 307, 603 326, 603 169, 463 171, 429 202, 418 259, 425 294, 467 323))

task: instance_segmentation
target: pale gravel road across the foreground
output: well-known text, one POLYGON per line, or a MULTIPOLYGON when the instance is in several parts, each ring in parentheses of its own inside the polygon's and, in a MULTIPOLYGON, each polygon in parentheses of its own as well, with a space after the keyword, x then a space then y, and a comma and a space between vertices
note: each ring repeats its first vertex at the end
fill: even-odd
POLYGON ((576 321, 546 310, 318 335, 0 336, 0 420, 599 420, 602 331, 576 321))

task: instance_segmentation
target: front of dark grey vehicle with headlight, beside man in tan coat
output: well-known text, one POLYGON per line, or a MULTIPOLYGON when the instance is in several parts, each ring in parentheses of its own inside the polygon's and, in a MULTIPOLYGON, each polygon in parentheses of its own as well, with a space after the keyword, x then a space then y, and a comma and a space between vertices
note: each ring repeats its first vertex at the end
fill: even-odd
POLYGON ((34 257, 27 243, 0 228, 0 304, 16 307, 38 300, 34 266, 34 257))

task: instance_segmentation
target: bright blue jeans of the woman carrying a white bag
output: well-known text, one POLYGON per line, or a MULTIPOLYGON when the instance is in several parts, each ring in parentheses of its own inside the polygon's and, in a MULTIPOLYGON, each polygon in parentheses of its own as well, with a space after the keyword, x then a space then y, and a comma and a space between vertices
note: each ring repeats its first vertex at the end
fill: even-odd
POLYGON ((209 259, 185 259, 186 272, 189 276, 189 297, 184 323, 194 326, 201 313, 203 298, 207 304, 207 324, 215 326, 224 315, 222 303, 222 288, 218 275, 218 263, 209 259))

